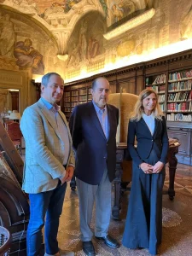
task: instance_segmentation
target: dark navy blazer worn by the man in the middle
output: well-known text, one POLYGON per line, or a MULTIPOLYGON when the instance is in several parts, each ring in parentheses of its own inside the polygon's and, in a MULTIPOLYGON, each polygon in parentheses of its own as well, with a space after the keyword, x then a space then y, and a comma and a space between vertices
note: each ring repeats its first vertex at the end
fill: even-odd
POLYGON ((76 106, 69 121, 73 148, 76 151, 75 176, 92 185, 100 183, 106 164, 109 180, 112 182, 115 177, 119 109, 113 105, 107 106, 108 140, 92 102, 76 106))

